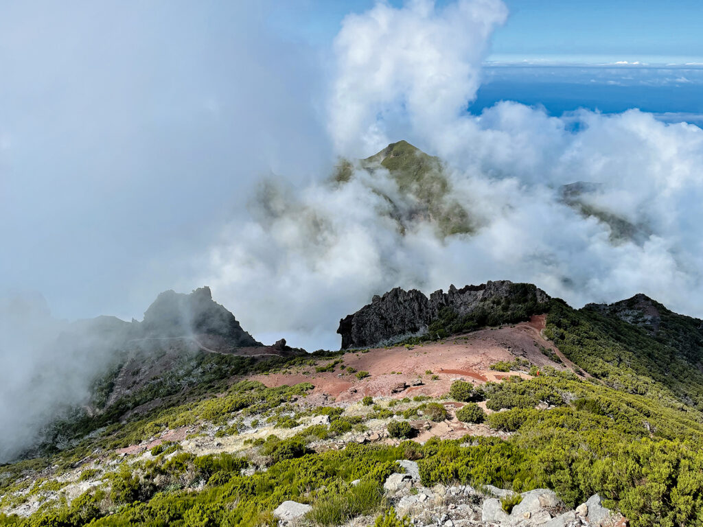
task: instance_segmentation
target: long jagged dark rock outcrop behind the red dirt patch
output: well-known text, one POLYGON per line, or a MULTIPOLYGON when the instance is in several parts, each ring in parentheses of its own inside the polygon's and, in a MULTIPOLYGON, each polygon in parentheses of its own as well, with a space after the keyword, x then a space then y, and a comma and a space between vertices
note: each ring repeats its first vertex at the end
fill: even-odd
POLYGON ((460 317, 470 315, 479 306, 493 302, 519 300, 545 304, 548 294, 530 284, 515 284, 508 280, 467 285, 457 289, 453 285, 445 293, 441 289, 425 294, 417 289, 391 289, 382 297, 374 296, 371 303, 340 320, 337 333, 342 335, 342 349, 362 348, 398 341, 423 334, 439 317, 442 308, 449 307, 460 317))

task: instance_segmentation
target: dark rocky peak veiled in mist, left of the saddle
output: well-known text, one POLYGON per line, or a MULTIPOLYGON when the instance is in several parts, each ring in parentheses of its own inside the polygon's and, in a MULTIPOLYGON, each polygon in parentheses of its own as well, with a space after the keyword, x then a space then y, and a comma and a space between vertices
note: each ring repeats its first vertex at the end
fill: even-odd
POLYGON ((234 315, 212 299, 209 287, 191 294, 162 292, 144 313, 141 323, 145 337, 207 335, 224 339, 228 346, 262 346, 242 329, 234 315))

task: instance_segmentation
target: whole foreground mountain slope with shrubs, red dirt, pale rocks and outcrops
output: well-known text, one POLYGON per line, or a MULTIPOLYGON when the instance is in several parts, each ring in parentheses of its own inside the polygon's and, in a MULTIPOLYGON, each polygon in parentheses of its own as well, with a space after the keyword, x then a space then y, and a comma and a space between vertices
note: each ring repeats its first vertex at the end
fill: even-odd
POLYGON ((145 317, 169 337, 129 335, 126 391, 0 467, 0 526, 703 524, 701 320, 489 282, 351 315, 350 339, 427 326, 403 344, 213 352, 202 336, 236 326, 198 295, 145 317))

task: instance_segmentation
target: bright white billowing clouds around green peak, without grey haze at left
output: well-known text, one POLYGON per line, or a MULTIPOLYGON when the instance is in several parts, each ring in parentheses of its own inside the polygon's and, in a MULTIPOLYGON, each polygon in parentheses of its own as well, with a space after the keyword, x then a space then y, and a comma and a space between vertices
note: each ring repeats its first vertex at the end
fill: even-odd
POLYGON ((638 110, 550 117, 503 102, 470 115, 505 15, 500 1, 413 1, 344 20, 328 104, 337 152, 366 157, 407 139, 439 155, 453 199, 479 228, 441 238, 418 219, 399 232, 381 197, 399 190, 382 171, 357 171, 344 186, 266 183, 252 221, 225 231, 204 275, 245 327, 334 347, 339 318, 373 294, 501 278, 536 282, 576 305, 645 292, 703 315, 703 131, 638 110), (560 186, 575 181, 602 183, 584 197, 600 216, 563 202, 560 186), (615 239, 609 215, 645 234, 615 239))

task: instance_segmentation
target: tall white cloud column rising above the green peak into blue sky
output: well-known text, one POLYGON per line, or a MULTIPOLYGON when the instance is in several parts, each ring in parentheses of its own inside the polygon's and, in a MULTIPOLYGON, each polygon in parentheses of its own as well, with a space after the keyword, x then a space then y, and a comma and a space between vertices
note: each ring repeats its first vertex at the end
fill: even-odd
POLYGON ((441 126, 475 97, 491 32, 508 11, 500 0, 432 0, 403 8, 379 2, 348 15, 335 39, 337 76, 330 134, 337 151, 359 157, 417 126, 441 126), (397 122, 396 122, 397 119, 397 122), (387 126, 399 125, 396 129, 387 126))

